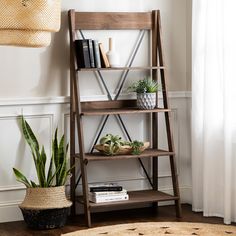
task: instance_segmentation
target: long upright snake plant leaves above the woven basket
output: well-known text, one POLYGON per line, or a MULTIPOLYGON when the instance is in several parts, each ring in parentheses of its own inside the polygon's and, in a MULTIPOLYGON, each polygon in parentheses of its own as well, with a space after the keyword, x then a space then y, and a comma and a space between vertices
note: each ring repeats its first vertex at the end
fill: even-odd
POLYGON ((47 156, 44 146, 42 146, 40 150, 38 140, 35 137, 30 125, 23 116, 20 117, 20 124, 25 141, 28 143, 31 149, 37 173, 38 184, 34 183, 33 181, 29 181, 19 170, 13 168, 16 180, 25 184, 27 188, 46 188, 65 185, 67 177, 70 175, 71 169, 67 168, 68 144, 66 148, 64 148, 64 135, 61 137, 58 144, 56 129, 54 138, 52 140, 52 157, 50 159, 49 168, 46 171, 47 156))

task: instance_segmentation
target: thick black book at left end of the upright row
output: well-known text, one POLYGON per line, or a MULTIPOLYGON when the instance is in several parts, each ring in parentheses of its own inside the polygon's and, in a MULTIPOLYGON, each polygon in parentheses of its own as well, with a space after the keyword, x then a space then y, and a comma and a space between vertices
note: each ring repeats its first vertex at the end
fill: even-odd
POLYGON ((75 40, 75 50, 78 68, 90 68, 88 40, 75 40))

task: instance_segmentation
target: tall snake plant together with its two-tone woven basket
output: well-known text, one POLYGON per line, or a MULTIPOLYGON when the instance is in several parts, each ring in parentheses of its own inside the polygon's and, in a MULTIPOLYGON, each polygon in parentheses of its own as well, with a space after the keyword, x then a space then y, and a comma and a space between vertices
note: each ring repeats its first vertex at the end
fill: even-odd
POLYGON ((56 129, 52 140, 52 156, 47 169, 44 146, 40 148, 34 132, 23 116, 20 121, 23 136, 31 149, 38 178, 37 183, 28 180, 24 174, 13 168, 16 180, 27 187, 25 199, 19 206, 24 220, 34 229, 61 227, 65 224, 72 205, 65 195, 65 183, 70 176, 68 144, 64 147, 64 135, 58 142, 56 129))

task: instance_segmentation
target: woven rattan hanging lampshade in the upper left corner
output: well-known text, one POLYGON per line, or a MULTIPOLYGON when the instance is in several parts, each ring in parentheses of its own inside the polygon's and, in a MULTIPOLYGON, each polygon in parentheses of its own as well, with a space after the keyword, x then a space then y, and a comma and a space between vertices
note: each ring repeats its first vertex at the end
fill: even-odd
POLYGON ((60 29, 60 0, 0 0, 0 44, 45 47, 60 29))

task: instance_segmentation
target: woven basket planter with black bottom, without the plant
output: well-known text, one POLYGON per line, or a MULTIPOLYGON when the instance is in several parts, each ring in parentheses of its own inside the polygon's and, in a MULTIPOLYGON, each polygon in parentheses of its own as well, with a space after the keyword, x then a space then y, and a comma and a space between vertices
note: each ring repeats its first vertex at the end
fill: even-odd
POLYGON ((28 227, 52 229, 65 225, 71 205, 65 195, 65 186, 59 186, 27 188, 19 207, 28 227))

